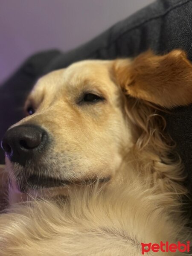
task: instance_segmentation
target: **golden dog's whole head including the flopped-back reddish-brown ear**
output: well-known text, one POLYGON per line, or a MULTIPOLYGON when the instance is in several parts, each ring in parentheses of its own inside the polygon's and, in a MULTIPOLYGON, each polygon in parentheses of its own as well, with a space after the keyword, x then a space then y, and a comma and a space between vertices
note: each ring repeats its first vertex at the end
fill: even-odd
POLYGON ((28 192, 112 179, 139 136, 125 95, 165 107, 185 105, 192 99, 190 79, 191 64, 179 50, 81 61, 42 77, 26 100, 26 118, 3 138, 12 182, 28 192))

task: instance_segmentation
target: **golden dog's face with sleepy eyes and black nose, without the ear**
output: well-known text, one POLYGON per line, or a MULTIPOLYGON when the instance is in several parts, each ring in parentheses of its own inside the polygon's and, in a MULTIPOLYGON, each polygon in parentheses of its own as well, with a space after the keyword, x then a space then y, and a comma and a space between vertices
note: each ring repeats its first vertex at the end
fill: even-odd
POLYGON ((28 116, 3 142, 19 190, 111 179, 132 145, 124 101, 110 61, 81 61, 41 78, 28 116))

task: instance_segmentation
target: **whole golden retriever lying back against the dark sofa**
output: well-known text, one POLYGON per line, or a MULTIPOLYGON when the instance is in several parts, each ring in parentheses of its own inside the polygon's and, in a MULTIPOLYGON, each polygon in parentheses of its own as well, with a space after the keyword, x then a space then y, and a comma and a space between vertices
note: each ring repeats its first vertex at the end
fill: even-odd
POLYGON ((39 79, 2 140, 0 256, 188 253, 186 175, 161 111, 191 103, 182 50, 39 79))

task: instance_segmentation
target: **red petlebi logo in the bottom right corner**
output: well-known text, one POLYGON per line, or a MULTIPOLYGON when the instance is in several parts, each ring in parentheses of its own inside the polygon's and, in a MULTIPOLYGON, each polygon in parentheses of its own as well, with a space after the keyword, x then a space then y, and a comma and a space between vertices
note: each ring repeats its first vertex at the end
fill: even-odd
POLYGON ((144 244, 141 243, 141 252, 144 255, 148 252, 162 252, 162 253, 168 253, 168 252, 180 252, 180 253, 189 253, 190 251, 190 241, 187 241, 186 244, 181 243, 180 241, 177 242, 177 244, 169 244, 168 241, 164 242, 160 241, 160 244, 144 244))

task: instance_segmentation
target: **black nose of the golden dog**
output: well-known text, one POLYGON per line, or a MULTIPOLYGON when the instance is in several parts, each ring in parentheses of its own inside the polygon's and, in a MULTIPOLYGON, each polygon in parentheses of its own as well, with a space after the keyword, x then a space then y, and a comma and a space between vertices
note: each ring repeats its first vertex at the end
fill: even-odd
POLYGON ((48 143, 47 132, 37 125, 19 125, 6 131, 1 146, 12 162, 25 166, 41 154, 48 143))

